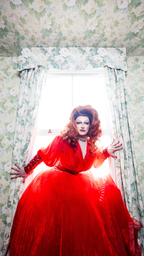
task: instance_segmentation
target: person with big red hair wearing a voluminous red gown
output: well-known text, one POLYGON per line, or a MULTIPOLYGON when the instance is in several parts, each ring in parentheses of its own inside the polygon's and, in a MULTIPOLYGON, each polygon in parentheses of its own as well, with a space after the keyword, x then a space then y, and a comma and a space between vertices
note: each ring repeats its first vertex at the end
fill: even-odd
MULTIPOLYGON (((74 108, 70 122, 12 179, 28 177, 42 161, 51 169, 36 175, 17 205, 10 256, 141 256, 138 230, 111 175, 96 177, 119 141, 100 150, 99 114, 90 105, 74 108)), ((15 173, 11 173, 12 175, 15 173)))

